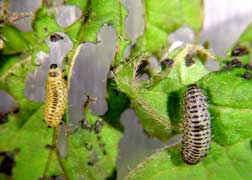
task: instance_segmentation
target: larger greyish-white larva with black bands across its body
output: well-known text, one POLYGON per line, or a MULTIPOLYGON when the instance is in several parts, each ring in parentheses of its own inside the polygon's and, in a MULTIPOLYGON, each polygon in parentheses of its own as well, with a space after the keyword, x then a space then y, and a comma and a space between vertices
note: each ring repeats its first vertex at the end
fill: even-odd
POLYGON ((208 153, 211 143, 211 122, 206 97, 196 85, 184 94, 184 122, 182 157, 188 164, 196 164, 208 153))

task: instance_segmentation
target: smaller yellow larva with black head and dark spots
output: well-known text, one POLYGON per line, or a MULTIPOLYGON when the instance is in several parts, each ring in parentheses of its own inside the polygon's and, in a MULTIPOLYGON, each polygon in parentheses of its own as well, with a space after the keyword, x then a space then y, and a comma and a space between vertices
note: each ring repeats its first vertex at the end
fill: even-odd
POLYGON ((64 115, 67 101, 66 83, 62 71, 52 64, 46 81, 45 121, 50 127, 58 127, 64 115))

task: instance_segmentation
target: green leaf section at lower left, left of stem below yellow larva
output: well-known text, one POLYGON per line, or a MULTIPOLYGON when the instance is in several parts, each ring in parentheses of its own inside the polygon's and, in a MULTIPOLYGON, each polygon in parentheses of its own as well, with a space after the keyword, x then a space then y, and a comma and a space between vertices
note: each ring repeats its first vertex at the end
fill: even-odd
POLYGON ((1 151, 18 150, 13 177, 38 179, 43 174, 47 162, 49 151, 46 145, 51 144, 53 132, 43 121, 43 108, 31 115, 22 128, 17 127, 18 119, 9 118, 9 121, 0 126, 0 149, 1 151))

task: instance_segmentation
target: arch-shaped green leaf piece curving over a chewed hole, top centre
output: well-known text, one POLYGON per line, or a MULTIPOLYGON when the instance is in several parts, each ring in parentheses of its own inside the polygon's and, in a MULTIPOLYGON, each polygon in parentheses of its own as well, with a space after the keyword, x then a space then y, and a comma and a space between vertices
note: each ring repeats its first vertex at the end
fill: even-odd
POLYGON ((96 34, 103 24, 112 24, 118 35, 117 54, 113 64, 123 59, 124 50, 129 45, 129 39, 125 34, 124 22, 127 11, 118 0, 100 1, 92 0, 90 6, 90 18, 83 29, 80 39, 82 41, 96 41, 96 34))

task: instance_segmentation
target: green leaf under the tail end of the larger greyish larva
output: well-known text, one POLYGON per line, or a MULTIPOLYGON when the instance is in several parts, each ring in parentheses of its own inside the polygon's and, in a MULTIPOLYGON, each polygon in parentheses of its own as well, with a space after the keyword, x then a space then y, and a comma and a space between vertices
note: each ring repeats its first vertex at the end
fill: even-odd
POLYGON ((208 156, 196 165, 184 163, 180 147, 172 147, 148 157, 125 179, 250 179, 251 159, 249 139, 227 147, 212 143, 208 156))

